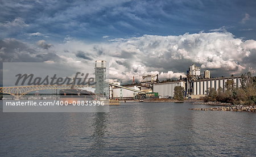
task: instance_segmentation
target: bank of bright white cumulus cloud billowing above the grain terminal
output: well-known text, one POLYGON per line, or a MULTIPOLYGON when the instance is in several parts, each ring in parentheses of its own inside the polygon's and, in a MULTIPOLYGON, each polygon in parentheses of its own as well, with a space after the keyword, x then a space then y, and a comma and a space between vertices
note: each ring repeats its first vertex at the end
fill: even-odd
MULTIPOLYGON (((46 41, 40 41, 45 45, 46 41)), ((46 46, 48 48, 48 46, 46 46)), ((240 75, 254 71, 256 41, 236 38, 230 32, 185 33, 180 36, 143 35, 129 39, 88 44, 75 39, 55 44, 51 48, 60 56, 74 62, 88 62, 77 57, 86 54, 91 61, 106 60, 110 79, 131 81, 133 76, 159 74, 160 79, 184 76, 188 66, 196 63, 203 70, 211 70, 216 77, 240 75)))

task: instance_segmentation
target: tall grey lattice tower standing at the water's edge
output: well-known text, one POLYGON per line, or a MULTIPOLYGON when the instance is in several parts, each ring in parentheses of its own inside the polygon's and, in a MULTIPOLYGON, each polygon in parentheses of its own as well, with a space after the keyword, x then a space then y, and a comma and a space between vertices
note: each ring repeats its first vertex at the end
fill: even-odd
POLYGON ((105 82, 106 81, 106 61, 97 60, 95 63, 95 82, 96 82, 96 95, 106 95, 105 82))

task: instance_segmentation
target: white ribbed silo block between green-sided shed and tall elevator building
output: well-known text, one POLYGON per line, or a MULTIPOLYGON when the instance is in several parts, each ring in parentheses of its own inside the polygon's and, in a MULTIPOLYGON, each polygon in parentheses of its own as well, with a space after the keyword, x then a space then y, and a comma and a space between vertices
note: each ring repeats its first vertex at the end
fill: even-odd
POLYGON ((163 97, 174 97, 174 88, 176 86, 181 86, 185 90, 185 82, 178 81, 153 84, 153 92, 157 92, 159 96, 163 97))

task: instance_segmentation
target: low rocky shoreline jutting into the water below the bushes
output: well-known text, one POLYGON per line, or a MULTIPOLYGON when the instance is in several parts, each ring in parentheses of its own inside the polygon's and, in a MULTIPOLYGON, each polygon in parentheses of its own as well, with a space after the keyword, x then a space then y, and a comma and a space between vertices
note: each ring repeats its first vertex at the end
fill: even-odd
POLYGON ((244 111, 244 112, 256 112, 256 105, 233 105, 229 107, 217 107, 217 108, 191 108, 191 110, 197 111, 244 111))

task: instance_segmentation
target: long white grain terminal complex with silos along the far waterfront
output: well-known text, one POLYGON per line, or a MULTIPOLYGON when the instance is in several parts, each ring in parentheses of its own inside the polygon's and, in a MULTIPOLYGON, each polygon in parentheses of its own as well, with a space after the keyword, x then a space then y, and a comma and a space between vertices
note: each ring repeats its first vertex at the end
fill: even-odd
MULTIPOLYGON (((216 91, 218 88, 222 88, 225 91, 225 83, 228 80, 233 80, 236 87, 241 86, 241 77, 222 77, 222 78, 210 78, 210 71, 204 71, 204 77, 201 75, 200 67, 195 64, 189 66, 186 78, 180 78, 176 82, 164 82, 159 83, 158 75, 146 75, 142 77, 142 82, 139 86, 126 86, 131 89, 127 90, 120 87, 110 87, 110 98, 113 99, 134 99, 138 97, 174 97, 174 88, 181 86, 184 88, 184 95, 192 98, 199 98, 207 95, 207 90, 214 88, 216 91), (142 93, 138 93, 142 92, 142 93), (142 96, 144 95, 144 96, 142 96), (149 96, 150 95, 150 96, 149 96)), ((120 85, 120 83, 118 84, 120 85)))

